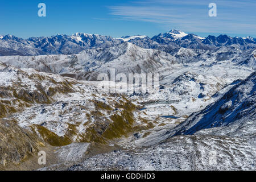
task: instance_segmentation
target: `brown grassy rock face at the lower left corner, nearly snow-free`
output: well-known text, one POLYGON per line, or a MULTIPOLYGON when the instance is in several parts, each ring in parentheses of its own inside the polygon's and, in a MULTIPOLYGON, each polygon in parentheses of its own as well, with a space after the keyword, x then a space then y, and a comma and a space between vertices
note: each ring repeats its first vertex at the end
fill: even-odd
POLYGON ((37 155, 44 143, 15 121, 0 119, 0 169, 18 165, 31 155, 37 155))

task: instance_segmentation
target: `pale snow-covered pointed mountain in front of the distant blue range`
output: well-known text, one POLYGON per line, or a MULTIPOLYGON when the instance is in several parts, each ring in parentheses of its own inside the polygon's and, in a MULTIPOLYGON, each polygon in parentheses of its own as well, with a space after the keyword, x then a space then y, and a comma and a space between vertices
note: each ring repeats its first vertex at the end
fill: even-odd
POLYGON ((0 57, 2 64, 60 75, 68 73, 80 80, 97 80, 99 72, 108 73, 110 68, 117 69, 117 73, 154 73, 162 64, 172 61, 174 57, 165 52, 143 49, 127 42, 107 49, 89 49, 78 55, 0 57), (92 73, 88 75, 88 72, 92 73))

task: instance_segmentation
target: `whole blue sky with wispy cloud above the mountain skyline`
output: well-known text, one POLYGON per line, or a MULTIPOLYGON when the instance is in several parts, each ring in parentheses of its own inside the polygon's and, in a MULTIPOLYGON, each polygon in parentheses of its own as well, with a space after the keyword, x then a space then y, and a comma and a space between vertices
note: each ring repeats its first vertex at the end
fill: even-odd
POLYGON ((255 0, 1 0, 0 34, 22 38, 75 32, 154 36, 172 28, 199 36, 256 38, 255 0), (38 16, 46 3, 47 16, 38 16), (209 3, 217 17, 209 17, 209 3))

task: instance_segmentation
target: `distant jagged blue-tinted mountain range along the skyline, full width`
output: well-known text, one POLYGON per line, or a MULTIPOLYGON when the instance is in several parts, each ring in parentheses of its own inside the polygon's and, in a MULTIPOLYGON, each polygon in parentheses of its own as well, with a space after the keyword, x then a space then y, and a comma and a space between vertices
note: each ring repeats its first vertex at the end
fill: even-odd
POLYGON ((71 36, 55 35, 51 37, 17 38, 13 35, 0 36, 0 56, 7 55, 71 55, 89 48, 109 48, 122 42, 131 42, 142 48, 154 48, 170 52, 174 48, 214 49, 221 46, 236 44, 240 49, 255 47, 256 39, 231 38, 227 35, 201 38, 193 34, 186 34, 179 30, 171 30, 163 34, 148 38, 147 36, 125 36, 112 38, 97 34, 76 33, 71 36))

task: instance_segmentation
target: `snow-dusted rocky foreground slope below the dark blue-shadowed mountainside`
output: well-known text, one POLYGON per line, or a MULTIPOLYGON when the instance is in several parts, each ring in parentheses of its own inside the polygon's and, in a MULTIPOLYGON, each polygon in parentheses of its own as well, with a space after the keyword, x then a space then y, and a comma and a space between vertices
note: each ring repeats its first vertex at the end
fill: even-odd
POLYGON ((124 171, 255 170, 255 145, 241 138, 179 136, 152 147, 113 151, 93 156, 68 168, 74 171, 114 169, 124 171))

